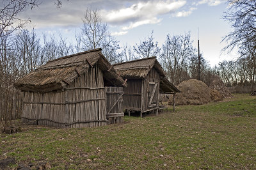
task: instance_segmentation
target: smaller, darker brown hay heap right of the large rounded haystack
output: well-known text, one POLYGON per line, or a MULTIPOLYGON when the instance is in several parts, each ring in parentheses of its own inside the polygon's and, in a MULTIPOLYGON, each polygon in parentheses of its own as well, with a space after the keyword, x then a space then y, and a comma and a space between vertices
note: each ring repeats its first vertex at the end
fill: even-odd
POLYGON ((223 98, 233 97, 229 89, 225 86, 224 82, 220 79, 212 81, 209 87, 211 89, 216 89, 217 91, 219 91, 223 98))

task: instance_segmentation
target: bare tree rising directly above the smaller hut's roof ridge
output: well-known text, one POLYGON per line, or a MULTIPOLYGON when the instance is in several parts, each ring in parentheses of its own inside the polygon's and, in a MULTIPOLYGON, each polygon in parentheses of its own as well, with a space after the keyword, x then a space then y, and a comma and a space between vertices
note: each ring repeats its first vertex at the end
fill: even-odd
POLYGON ((144 39, 140 44, 136 43, 136 46, 133 46, 134 51, 141 58, 149 58, 152 56, 159 56, 161 49, 157 46, 157 42, 154 42, 153 37, 154 31, 151 32, 151 35, 148 38, 144 39))

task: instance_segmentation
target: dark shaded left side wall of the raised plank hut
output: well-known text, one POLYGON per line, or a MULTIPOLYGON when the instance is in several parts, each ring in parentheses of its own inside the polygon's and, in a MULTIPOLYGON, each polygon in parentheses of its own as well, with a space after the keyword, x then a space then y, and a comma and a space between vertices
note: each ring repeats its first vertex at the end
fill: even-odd
POLYGON ((123 108, 140 111, 142 80, 127 80, 128 86, 124 88, 123 108))

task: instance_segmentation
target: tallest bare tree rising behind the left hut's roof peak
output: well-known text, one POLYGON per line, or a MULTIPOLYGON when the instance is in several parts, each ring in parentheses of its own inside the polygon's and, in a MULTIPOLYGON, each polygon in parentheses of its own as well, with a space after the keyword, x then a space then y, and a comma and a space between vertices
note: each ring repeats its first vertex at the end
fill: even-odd
POLYGON ((119 42, 110 35, 108 25, 102 22, 97 10, 87 9, 83 17, 81 33, 76 33, 76 50, 102 49, 102 54, 110 63, 122 61, 117 50, 120 49, 119 42))

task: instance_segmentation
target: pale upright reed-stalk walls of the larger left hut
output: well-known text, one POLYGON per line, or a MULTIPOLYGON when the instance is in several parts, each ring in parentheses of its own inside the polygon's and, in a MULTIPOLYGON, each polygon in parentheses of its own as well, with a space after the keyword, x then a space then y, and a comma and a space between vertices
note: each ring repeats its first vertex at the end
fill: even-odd
POLYGON ((107 125, 102 71, 95 65, 58 93, 24 92, 22 120, 53 127, 107 125))

